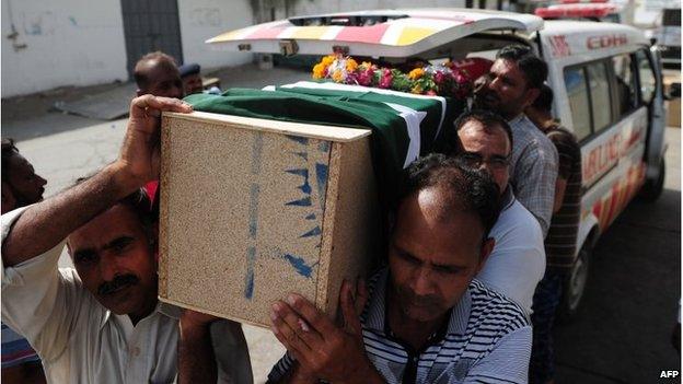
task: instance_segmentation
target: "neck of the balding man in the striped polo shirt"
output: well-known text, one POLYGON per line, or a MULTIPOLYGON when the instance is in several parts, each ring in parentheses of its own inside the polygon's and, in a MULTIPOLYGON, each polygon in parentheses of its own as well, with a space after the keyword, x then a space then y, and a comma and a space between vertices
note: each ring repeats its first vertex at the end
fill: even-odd
POLYGON ((418 322, 412 318, 408 318, 398 307, 398 305, 393 305, 392 303, 396 303, 396 300, 393 300, 392 296, 394 293, 391 293, 386 298, 386 316, 389 322, 389 327, 391 331, 398 339, 407 342, 415 350, 421 350, 426 347, 429 338, 439 331, 440 327, 448 319, 448 315, 450 312, 445 312, 441 316, 436 319, 428 322, 418 322))

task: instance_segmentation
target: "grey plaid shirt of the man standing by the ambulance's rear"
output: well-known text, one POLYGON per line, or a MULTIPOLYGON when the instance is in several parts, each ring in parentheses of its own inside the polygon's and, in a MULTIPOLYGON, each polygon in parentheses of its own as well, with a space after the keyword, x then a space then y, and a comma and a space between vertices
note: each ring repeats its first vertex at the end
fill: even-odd
POLYGON ((513 141, 510 184, 517 199, 539 220, 545 237, 555 201, 557 150, 524 114, 508 123, 513 141))

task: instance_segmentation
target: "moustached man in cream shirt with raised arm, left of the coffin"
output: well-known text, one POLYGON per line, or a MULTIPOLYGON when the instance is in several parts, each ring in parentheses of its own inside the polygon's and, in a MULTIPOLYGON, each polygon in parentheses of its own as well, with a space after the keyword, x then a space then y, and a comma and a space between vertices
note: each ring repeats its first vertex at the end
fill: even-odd
POLYGON ((135 98, 115 162, 2 216, 2 321, 50 383, 252 382, 239 325, 157 300, 155 229, 139 188, 159 174, 161 110, 192 107, 135 98), (76 270, 57 268, 63 238, 76 270))

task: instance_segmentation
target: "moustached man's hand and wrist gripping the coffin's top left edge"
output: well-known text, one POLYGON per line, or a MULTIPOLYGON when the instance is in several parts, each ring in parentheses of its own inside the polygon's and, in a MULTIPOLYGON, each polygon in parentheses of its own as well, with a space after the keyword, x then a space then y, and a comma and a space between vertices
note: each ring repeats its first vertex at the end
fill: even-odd
POLYGON ((137 188, 159 178, 161 112, 190 113, 192 106, 177 98, 143 95, 130 103, 130 118, 116 164, 123 181, 137 188))

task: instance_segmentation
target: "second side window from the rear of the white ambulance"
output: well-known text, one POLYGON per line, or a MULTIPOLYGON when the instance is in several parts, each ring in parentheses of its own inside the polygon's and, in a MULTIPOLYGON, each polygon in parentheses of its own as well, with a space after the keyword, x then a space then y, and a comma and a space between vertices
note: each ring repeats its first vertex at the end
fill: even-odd
POLYGON ((612 123, 612 97, 610 97, 607 68, 604 61, 599 61, 588 65, 586 69, 593 112, 593 131, 599 132, 612 123))

